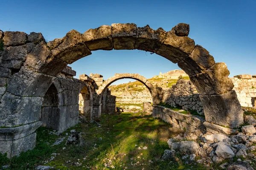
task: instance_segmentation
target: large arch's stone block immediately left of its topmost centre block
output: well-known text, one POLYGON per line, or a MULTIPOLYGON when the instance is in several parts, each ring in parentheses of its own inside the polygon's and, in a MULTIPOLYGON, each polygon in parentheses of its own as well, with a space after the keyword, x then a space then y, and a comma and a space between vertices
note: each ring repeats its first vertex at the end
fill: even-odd
POLYGON ((90 51, 112 50, 111 26, 100 26, 84 32, 83 40, 90 51))

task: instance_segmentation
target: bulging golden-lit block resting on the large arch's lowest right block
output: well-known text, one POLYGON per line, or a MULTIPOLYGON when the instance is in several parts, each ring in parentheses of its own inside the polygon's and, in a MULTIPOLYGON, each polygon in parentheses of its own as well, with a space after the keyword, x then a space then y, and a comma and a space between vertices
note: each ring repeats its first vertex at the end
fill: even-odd
POLYGON ((228 78, 229 74, 227 65, 224 62, 218 62, 204 73, 189 78, 201 95, 224 94, 234 87, 232 80, 228 78))

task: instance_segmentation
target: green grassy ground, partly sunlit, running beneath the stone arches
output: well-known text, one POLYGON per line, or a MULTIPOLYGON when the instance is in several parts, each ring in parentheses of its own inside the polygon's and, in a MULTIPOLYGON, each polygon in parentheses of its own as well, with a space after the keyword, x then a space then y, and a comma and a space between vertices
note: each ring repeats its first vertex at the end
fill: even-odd
MULTIPOLYGON (((169 124, 142 116, 142 113, 122 113, 102 115, 100 124, 80 123, 60 136, 44 127, 37 130, 37 144, 34 150, 14 157, 12 161, 0 156, 0 167, 11 164, 9 169, 33 169, 37 165, 54 166, 60 170, 109 170, 113 165, 116 170, 198 170, 207 169, 183 161, 162 161, 167 140, 176 136, 169 124), (82 132, 83 146, 66 146, 63 142, 51 147, 56 139, 66 136, 71 129, 82 132), (137 145, 137 146, 136 146, 137 145), (147 150, 138 147, 147 147, 147 150), (66 147, 63 150, 63 147, 66 147), (57 153, 51 159, 52 153, 57 153), (110 167, 105 167, 107 164, 110 167), (111 163, 111 164, 110 164, 111 163)), ((177 129, 176 129, 177 130, 177 129)), ((67 138, 66 138, 67 139, 67 138)))

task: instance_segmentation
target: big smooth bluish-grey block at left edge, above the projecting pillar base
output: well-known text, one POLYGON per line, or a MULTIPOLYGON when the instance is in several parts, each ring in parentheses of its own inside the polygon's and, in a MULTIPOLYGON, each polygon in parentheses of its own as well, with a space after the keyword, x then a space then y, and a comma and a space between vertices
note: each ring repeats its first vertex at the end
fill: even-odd
POLYGON ((6 92, 0 103, 0 125, 13 127, 38 121, 42 100, 41 97, 21 97, 6 92))

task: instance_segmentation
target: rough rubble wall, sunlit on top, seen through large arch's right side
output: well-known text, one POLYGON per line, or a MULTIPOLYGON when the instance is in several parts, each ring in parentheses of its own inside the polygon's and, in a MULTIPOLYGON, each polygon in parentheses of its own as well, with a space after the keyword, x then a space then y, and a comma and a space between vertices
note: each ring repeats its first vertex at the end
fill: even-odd
POLYGON ((176 85, 163 92, 162 102, 172 107, 181 107, 186 111, 197 111, 204 114, 204 109, 199 94, 192 82, 180 79, 176 85))

